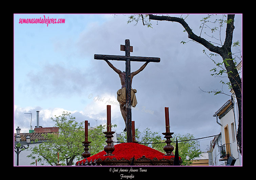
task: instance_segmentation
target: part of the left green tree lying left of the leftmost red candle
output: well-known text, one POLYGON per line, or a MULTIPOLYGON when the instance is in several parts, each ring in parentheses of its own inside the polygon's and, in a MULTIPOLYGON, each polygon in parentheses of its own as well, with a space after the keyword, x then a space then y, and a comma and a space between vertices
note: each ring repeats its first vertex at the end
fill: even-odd
POLYGON ((61 165, 73 165, 74 159, 79 159, 83 152, 81 145, 84 140, 83 123, 76 122, 76 118, 68 112, 63 112, 61 116, 51 119, 56 122, 55 127, 59 127, 59 133, 47 133, 45 135, 47 141, 34 147, 27 157, 36 159, 37 156, 39 163, 46 161, 49 165, 55 165, 59 153, 61 165))

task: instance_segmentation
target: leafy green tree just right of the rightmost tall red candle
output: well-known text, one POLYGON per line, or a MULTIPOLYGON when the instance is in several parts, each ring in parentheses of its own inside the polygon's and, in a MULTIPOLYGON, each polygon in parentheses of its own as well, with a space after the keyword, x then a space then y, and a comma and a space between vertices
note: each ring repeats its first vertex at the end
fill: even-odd
POLYGON ((192 161, 194 158, 199 157, 201 154, 200 149, 198 149, 198 142, 196 140, 191 140, 190 139, 195 139, 195 137, 192 134, 185 134, 185 135, 180 135, 180 134, 174 134, 173 138, 171 139, 173 142, 171 145, 174 146, 174 153, 175 153, 175 148, 176 148, 176 137, 178 139, 178 149, 179 149, 179 156, 182 159, 182 165, 190 165, 192 164, 192 161))

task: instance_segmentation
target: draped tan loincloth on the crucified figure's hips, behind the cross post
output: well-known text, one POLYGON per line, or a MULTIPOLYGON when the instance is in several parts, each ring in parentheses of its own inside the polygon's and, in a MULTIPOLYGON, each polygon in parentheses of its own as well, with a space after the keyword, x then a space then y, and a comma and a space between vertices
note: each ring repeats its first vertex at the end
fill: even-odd
MULTIPOLYGON (((135 96, 136 92, 137 92, 136 89, 131 88, 131 104, 133 108, 135 108, 135 106, 137 105, 137 99, 135 96)), ((117 100, 120 104, 123 104, 123 105, 126 104, 126 87, 123 87, 122 89, 119 89, 117 91, 117 100)))

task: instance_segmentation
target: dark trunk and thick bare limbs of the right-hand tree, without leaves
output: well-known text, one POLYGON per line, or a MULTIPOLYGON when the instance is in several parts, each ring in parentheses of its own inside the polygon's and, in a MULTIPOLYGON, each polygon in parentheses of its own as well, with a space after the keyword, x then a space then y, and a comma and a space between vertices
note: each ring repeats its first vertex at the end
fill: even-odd
POLYGON ((149 15, 150 20, 158 20, 158 21, 172 21, 180 23, 188 33, 188 38, 202 44, 204 47, 209 49, 211 52, 215 52, 219 54, 223 61, 227 62, 224 63, 225 68, 228 72, 228 77, 231 82, 231 86, 235 92, 237 103, 238 103, 238 130, 237 130, 237 142, 239 146, 239 151, 242 154, 242 81, 236 69, 235 63, 232 58, 231 54, 231 46, 232 46, 232 39, 233 39, 233 31, 234 31, 234 18, 235 15, 228 15, 228 23, 226 29, 226 37, 225 42, 222 47, 214 46, 205 39, 195 35, 189 25, 184 21, 184 19, 177 18, 177 17, 169 17, 169 16, 155 16, 149 15))

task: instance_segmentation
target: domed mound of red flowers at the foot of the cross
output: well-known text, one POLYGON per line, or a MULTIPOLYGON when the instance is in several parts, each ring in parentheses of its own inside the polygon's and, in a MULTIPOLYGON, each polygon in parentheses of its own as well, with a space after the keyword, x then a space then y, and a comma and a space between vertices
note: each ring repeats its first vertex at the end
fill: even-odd
MULTIPOLYGON (((149 158, 149 159, 157 158, 158 160, 163 158, 165 159, 174 158, 174 156, 164 156, 163 153, 155 149, 152 149, 142 144, 133 143, 133 142, 116 144, 114 145, 114 147, 115 147, 115 151, 112 154, 115 156, 104 156, 106 152, 101 151, 98 154, 95 154, 86 159, 88 162, 90 162, 91 160, 93 162, 95 159, 97 160, 99 158, 101 160, 105 160, 106 158, 110 158, 110 159, 116 158, 117 160, 124 158, 126 160, 130 160, 131 158, 133 158, 133 156, 134 156, 134 159, 141 158, 142 156, 145 156, 146 158, 149 158)), ((86 159, 78 161, 76 162, 76 164, 78 164, 79 162, 81 164, 82 162, 85 162, 86 159)))

